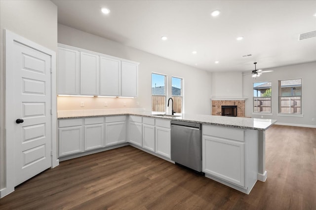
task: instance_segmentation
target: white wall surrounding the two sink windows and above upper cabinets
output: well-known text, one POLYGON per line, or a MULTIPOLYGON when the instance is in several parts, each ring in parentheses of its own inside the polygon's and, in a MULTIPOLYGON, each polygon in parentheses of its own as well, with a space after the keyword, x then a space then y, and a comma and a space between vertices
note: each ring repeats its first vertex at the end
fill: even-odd
MULTIPOLYGON (((169 90, 169 96, 167 97, 171 96, 171 76, 184 79, 184 107, 186 113, 210 114, 210 72, 164 59, 135 48, 127 47, 118 42, 60 24, 58 25, 58 43, 139 62, 139 94, 138 98, 128 101, 128 103, 130 103, 127 105, 128 107, 136 107, 136 102, 138 102, 139 106, 137 107, 151 110, 151 73, 158 72, 167 75, 169 90)), ((61 100, 58 101, 59 104, 61 100)), ((65 101, 65 99, 63 99, 63 101, 65 101)), ((115 103, 118 104, 118 107, 115 108, 123 108, 120 105, 122 104, 122 99, 117 99, 115 103)), ((62 107, 62 105, 58 105, 58 107, 62 107)), ((81 108, 79 104, 76 103, 73 109, 81 108)))

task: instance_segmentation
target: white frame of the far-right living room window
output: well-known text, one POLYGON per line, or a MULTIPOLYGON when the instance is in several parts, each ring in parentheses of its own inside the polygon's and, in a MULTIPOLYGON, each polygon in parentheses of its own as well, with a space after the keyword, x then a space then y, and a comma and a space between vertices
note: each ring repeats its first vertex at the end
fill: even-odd
POLYGON ((278 115, 281 116, 281 115, 290 115, 290 116, 295 116, 295 115, 298 115, 298 116, 302 116, 302 78, 294 78, 294 79, 281 79, 281 80, 278 80, 278 115), (282 96, 282 92, 281 92, 281 81, 286 81, 286 80, 301 80, 301 85, 298 86, 298 87, 301 87, 301 95, 300 96, 282 96), (293 105, 294 107, 300 107, 300 112, 292 112, 291 113, 291 98, 293 97, 299 97, 300 98, 300 106, 295 106, 293 105), (289 103, 289 111, 290 112, 281 112, 281 98, 289 98, 290 99, 290 103, 289 103))

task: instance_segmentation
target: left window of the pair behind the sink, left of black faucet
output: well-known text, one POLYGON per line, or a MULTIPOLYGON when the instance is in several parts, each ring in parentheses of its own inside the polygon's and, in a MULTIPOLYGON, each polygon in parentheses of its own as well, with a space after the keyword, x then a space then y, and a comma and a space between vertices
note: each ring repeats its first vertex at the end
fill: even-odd
POLYGON ((166 76, 152 73, 152 111, 166 111, 166 76))

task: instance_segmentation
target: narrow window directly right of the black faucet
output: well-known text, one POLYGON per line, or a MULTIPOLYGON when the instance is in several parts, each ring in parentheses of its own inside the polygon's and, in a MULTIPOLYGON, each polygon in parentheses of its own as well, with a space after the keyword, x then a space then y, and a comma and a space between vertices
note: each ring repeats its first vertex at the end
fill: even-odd
POLYGON ((176 113, 182 113, 182 79, 178 77, 171 77, 171 87, 172 87, 172 100, 173 100, 173 110, 176 113))

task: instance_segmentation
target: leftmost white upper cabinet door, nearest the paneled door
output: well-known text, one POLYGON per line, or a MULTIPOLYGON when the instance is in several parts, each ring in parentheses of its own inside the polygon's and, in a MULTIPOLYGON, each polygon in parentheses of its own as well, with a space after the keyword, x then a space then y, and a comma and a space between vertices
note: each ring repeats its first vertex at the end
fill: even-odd
POLYGON ((80 94, 79 51, 58 47, 57 94, 80 94))

